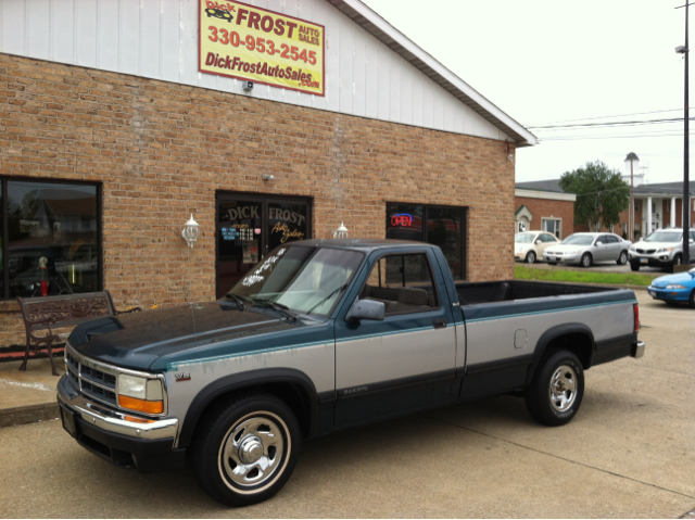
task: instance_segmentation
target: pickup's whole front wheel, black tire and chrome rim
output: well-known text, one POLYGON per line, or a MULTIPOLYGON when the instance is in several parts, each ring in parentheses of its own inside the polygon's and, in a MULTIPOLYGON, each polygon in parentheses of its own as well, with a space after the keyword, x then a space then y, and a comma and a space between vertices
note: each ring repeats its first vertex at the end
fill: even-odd
POLYGON ((275 395, 241 395, 207 410, 192 445, 193 474, 227 506, 267 500, 287 483, 301 448, 300 426, 275 395))

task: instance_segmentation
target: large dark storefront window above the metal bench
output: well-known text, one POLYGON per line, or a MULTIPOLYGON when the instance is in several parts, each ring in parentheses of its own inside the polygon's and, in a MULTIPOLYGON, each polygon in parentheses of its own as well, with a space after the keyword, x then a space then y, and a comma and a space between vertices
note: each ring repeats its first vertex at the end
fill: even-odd
POLYGON ((98 187, 21 180, 2 187, 2 296, 101 290, 98 187))

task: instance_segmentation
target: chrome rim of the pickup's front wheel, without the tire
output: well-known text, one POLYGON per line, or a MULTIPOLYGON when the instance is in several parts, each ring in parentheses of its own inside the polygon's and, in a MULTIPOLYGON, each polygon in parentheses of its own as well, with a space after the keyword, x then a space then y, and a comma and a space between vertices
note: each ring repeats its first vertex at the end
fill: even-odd
POLYGON ((219 472, 238 493, 271 485, 290 456, 287 424, 275 414, 256 411, 239 419, 219 448, 219 472))

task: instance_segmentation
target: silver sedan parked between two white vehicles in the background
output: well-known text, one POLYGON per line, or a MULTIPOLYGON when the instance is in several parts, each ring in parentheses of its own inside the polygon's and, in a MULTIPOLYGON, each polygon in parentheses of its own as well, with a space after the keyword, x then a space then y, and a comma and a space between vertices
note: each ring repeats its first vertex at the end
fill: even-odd
POLYGON ((590 267, 599 262, 628 263, 632 242, 614 233, 574 233, 558 245, 546 249, 543 259, 551 265, 569 264, 590 267))

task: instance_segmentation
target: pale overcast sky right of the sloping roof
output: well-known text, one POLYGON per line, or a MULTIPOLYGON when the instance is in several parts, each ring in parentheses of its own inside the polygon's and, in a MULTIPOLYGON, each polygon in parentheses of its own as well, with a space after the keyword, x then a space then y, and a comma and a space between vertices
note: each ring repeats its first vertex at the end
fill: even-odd
POLYGON ((648 182, 683 180, 684 62, 674 48, 685 43, 685 10, 674 8, 684 0, 363 1, 527 127, 681 118, 530 129, 541 143, 518 151, 517 181, 559 178, 596 160, 623 173, 629 152, 648 166, 648 182), (645 112, 655 113, 633 115, 645 112), (605 116, 622 117, 593 119, 605 116), (649 137, 615 137, 627 135, 649 137), (587 136, 605 138, 576 138, 587 136), (572 139, 552 140, 558 137, 572 139))

